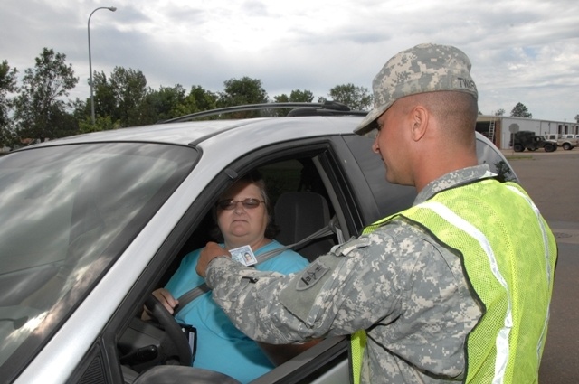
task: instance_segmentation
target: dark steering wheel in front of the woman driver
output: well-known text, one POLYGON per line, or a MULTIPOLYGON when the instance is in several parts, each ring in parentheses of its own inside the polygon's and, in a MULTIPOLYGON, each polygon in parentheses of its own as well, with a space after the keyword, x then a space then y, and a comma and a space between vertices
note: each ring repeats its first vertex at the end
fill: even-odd
POLYGON ((169 340, 175 345, 179 364, 190 367, 193 356, 189 348, 189 341, 185 337, 181 326, 176 322, 175 317, 169 314, 165 306, 153 294, 147 297, 145 305, 157 319, 157 322, 165 329, 169 340))

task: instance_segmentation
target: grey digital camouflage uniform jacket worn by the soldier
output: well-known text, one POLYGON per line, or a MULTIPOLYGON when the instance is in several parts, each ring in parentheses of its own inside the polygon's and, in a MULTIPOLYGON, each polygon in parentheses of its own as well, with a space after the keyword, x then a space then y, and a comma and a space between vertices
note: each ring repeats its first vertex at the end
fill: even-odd
MULTIPOLYGON (((414 205, 492 176, 487 165, 449 173, 429 183, 414 205)), ((365 383, 464 379, 465 339, 482 314, 460 258, 403 220, 346 242, 296 276, 215 258, 206 281, 232 322, 261 342, 368 330, 365 383)))

